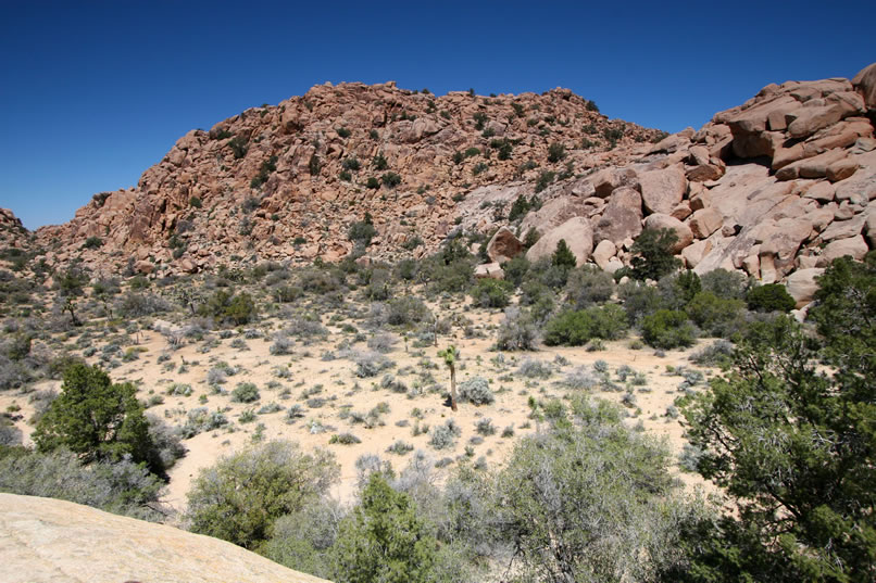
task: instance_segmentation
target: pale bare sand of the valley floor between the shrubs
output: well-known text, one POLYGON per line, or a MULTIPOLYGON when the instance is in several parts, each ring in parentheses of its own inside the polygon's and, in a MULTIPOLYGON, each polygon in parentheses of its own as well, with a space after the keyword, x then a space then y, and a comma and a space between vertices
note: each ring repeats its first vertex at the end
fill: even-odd
MULTIPOLYGON (((609 364, 612 379, 616 379, 615 370, 622 365, 628 365, 636 371, 645 373, 647 383, 643 386, 634 386, 636 394, 636 407, 628 407, 631 417, 628 423, 641 422, 645 430, 651 434, 664 438, 669 447, 676 453, 680 453, 685 444, 683 427, 679 419, 666 417, 666 409, 676 397, 680 395, 678 385, 683 379, 667 372, 667 367, 690 366, 688 356, 711 341, 702 341, 698 346, 687 351, 669 351, 663 357, 658 357, 651 348, 630 350, 630 339, 608 342, 606 350, 600 352, 586 352, 583 347, 546 347, 530 353, 502 353, 504 365, 495 364, 493 359, 500 353, 492 351, 492 338, 495 327, 501 319, 501 314, 486 310, 465 312, 465 316, 474 320, 476 329, 484 331, 486 338, 463 338, 462 331, 456 331, 451 337, 440 337, 439 346, 454 343, 460 351, 460 362, 458 365, 458 381, 462 382, 475 376, 480 376, 489 380, 490 386, 496 394, 496 402, 490 405, 474 406, 461 403, 459 411, 455 414, 446 406, 443 398, 438 393, 426 393, 413 398, 405 394, 390 392, 379 388, 381 372, 375 378, 356 378, 355 364, 348 358, 335 360, 323 360, 321 356, 328 351, 337 348, 338 343, 350 334, 341 333, 337 328, 329 326, 331 334, 320 343, 303 346, 296 343, 291 355, 274 356, 270 354, 272 343, 271 335, 265 338, 246 340, 247 348, 239 350, 231 347, 235 335, 230 339, 218 340, 215 334, 211 338, 218 341, 218 345, 204 351, 204 342, 191 342, 174 352, 167 350, 167 341, 157 332, 142 332, 138 334, 139 342, 135 346, 142 351, 139 359, 126 363, 111 371, 114 381, 134 381, 139 385, 139 394, 146 400, 151 395, 164 395, 164 403, 148 409, 148 413, 163 417, 171 424, 183 424, 186 414, 196 407, 205 406, 211 410, 222 409, 233 421, 233 430, 218 429, 208 433, 199 434, 184 443, 188 447, 188 454, 178 460, 176 466, 170 471, 171 482, 167 489, 166 502, 178 510, 185 508, 186 493, 191 487, 193 479, 198 472, 205 467, 213 465, 221 456, 239 451, 253 442, 256 433, 256 426, 264 424, 262 439, 288 439, 296 441, 308 451, 315 447, 325 447, 335 453, 341 467, 341 480, 331 492, 341 500, 349 502, 356 492, 356 469, 355 460, 364 454, 378 454, 384 459, 391 461, 393 468, 399 471, 408 464, 411 454, 399 456, 387 453, 386 449, 397 440, 413 445, 417 449, 424 449, 433 459, 443 457, 458 458, 465 456, 466 445, 470 439, 475 436, 475 422, 484 417, 490 418, 497 432, 493 435, 484 436, 483 443, 471 445, 477 459, 485 457, 487 466, 491 469, 499 467, 513 448, 515 440, 529 434, 539 429, 539 423, 529 419, 530 408, 528 406, 529 396, 543 400, 548 397, 565 397, 573 393, 559 384, 563 376, 572 371, 575 367, 586 365, 592 367, 597 360, 604 360, 609 364), (158 357, 162 353, 170 354, 171 359, 159 363, 158 357), (566 365, 556 365, 555 358, 567 359, 566 365), (551 364, 553 373, 548 379, 526 379, 517 372, 521 362, 526 358, 541 360, 551 364), (234 367, 240 367, 240 373, 228 377, 224 389, 230 391, 239 382, 253 382, 259 386, 261 398, 258 403, 240 404, 231 403, 230 395, 214 394, 212 388, 207 382, 208 371, 218 362, 225 362, 234 367), (184 371, 179 366, 185 364, 184 371), (172 367, 171 367, 172 365, 172 367), (290 378, 277 378, 272 370, 275 367, 288 367, 291 372, 290 378), (172 368, 172 370, 168 370, 172 368), (500 380, 501 378, 501 380, 500 380), (280 386, 268 389, 267 383, 277 381, 280 386), (191 396, 171 396, 166 394, 172 383, 190 384, 193 392, 191 396), (316 385, 322 385, 322 392, 314 395, 326 400, 321 408, 310 408, 305 404, 305 398, 301 398, 301 393, 312 390, 316 385), (355 388, 359 386, 356 390, 355 388), (646 388, 648 391, 641 391, 646 388), (281 397, 283 389, 289 389, 290 394, 286 398, 281 397), (202 403, 202 397, 207 402, 202 403), (248 409, 258 410, 261 406, 271 402, 280 405, 284 410, 258 415, 255 420, 249 423, 240 423, 238 417, 248 409), (304 417, 293 424, 286 422, 286 409, 295 403, 301 403, 308 409, 304 417), (383 424, 366 429, 363 424, 354 424, 348 417, 340 418, 341 411, 349 408, 352 411, 367 413, 378 403, 389 405, 389 411, 383 416, 383 424), (456 440, 455 446, 449 449, 436 451, 429 445, 427 433, 414 436, 412 428, 417 422, 412 416, 414 409, 422 411, 422 424, 430 428, 443 423, 447 419, 453 418, 462 428, 462 435, 456 440), (408 427, 398 427, 397 422, 406 420, 408 427), (311 431, 312 421, 317 421, 329 428, 323 433, 311 431), (514 428, 513 438, 502 438, 502 429, 509 426, 514 428), (333 434, 349 432, 362 440, 359 444, 341 445, 329 444, 333 434)), ((326 318, 323 318, 326 322, 326 318)), ((261 326, 273 325, 281 327, 279 322, 262 322, 261 326)), ((123 347, 126 348, 127 346, 123 347)), ((366 351, 364 343, 356 343, 354 350, 366 351)), ((449 372, 442 360, 437 356, 438 348, 427 346, 422 348, 409 347, 405 352, 404 343, 399 341, 396 350, 387 354, 387 357, 395 363, 395 367, 388 369, 400 380, 412 385, 417 380, 417 372, 423 370, 422 363, 428 360, 437 368, 430 372, 436 381, 443 388, 449 386, 449 372), (406 376, 400 375, 400 369, 412 367, 413 372, 406 376)), ((705 371, 711 373, 714 371, 705 371)), ((622 384, 623 383, 618 383, 622 384)), ((58 388, 59 382, 41 383, 38 389, 58 388)), ((620 403, 625 391, 601 392, 593 391, 596 397, 606 398, 620 403)), ((0 394, 0 407, 7 409, 12 403, 20 405, 23 420, 18 422, 22 428, 25 443, 29 441, 33 427, 25 421, 33 415, 33 405, 28 403, 27 395, 15 395, 13 393, 0 394)), ((688 486, 702 484, 699 477, 690 473, 678 472, 681 480, 688 486)))

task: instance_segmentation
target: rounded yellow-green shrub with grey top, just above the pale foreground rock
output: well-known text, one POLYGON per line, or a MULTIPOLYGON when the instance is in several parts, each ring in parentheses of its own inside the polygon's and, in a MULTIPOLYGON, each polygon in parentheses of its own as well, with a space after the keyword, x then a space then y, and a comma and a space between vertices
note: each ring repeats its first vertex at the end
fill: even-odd
POLYGON ((337 478, 331 454, 304 454, 288 441, 223 457, 201 470, 188 493, 189 529, 254 548, 279 517, 318 499, 337 478))

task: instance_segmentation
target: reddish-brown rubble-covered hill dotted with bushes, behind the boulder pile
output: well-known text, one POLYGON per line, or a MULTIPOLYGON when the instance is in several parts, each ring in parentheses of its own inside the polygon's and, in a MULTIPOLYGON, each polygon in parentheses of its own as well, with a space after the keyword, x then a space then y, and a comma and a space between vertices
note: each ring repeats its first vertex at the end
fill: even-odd
POLYGON ((86 263, 135 254, 192 271, 253 256, 337 259, 352 249, 349 226, 370 213, 374 254, 405 242, 430 250, 472 190, 572 175, 659 136, 563 89, 435 97, 326 84, 188 132, 135 189, 96 194, 38 237, 50 263, 85 245, 86 263))

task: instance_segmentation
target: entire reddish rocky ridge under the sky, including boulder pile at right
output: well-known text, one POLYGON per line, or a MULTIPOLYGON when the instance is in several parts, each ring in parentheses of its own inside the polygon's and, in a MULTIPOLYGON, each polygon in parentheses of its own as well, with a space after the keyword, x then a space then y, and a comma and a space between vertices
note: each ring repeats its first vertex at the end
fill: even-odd
MULTIPOLYGON (((852 80, 769 85, 667 137, 562 89, 435 97, 327 84, 190 131, 135 189, 96 194, 36 239, 50 265, 192 273, 338 259, 353 250, 350 226, 371 216, 372 257, 508 227, 493 259, 535 230, 530 257, 562 238, 579 264, 614 270, 643 228, 666 227, 687 267, 790 276, 802 304, 833 257, 876 243, 875 109, 876 64, 852 80)), ((480 271, 501 277, 498 265, 480 271)))

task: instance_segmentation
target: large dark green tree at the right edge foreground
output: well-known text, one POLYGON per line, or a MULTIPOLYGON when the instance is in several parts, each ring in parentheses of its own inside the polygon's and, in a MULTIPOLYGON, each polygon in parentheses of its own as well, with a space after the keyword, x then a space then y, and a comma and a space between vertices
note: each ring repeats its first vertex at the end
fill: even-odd
POLYGON ((819 286, 817 334, 753 325, 735 370, 685 407, 699 471, 738 516, 689 533, 684 579, 876 579, 876 256, 836 259, 819 286))

